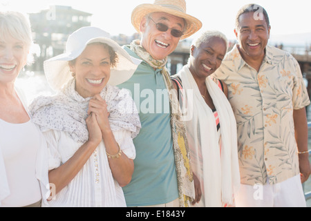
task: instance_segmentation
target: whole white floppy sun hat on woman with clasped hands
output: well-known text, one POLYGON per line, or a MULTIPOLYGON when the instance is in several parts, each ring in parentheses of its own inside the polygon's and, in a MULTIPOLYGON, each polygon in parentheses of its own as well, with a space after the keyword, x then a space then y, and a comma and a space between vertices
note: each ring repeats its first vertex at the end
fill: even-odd
POLYGON ((73 78, 68 61, 79 57, 88 44, 95 42, 108 44, 115 50, 119 58, 116 66, 111 68, 111 76, 107 84, 116 86, 131 78, 141 61, 131 57, 121 46, 111 40, 108 32, 100 28, 84 27, 76 30, 68 37, 64 54, 44 61, 46 79, 53 90, 60 90, 64 84, 73 78))

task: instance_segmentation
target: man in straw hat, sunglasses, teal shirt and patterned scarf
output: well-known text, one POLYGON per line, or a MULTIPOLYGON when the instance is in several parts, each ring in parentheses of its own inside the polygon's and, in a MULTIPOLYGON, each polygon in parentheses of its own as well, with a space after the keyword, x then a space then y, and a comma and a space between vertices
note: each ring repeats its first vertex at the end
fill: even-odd
POLYGON ((186 13, 185 0, 156 0, 132 12, 141 40, 124 46, 142 59, 134 75, 119 85, 131 90, 142 129, 133 142, 135 169, 123 188, 127 206, 188 206, 194 198, 194 176, 178 99, 165 65, 167 56, 202 23, 186 13), (170 94, 170 95, 169 95, 170 94))

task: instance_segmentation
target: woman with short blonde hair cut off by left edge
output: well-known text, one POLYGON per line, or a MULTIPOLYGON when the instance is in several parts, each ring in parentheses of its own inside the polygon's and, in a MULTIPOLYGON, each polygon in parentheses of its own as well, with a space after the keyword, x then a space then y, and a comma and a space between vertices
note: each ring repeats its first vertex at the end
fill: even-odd
POLYGON ((0 206, 40 206, 41 190, 46 190, 38 180, 44 173, 36 169, 44 139, 32 122, 23 93, 15 87, 31 44, 26 17, 0 12, 0 206))

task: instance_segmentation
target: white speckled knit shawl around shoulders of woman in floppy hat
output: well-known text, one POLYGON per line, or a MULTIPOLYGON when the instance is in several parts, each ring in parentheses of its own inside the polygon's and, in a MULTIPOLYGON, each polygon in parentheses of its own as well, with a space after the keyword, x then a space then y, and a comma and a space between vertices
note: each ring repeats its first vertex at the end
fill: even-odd
MULTIPOLYGON (((141 125, 138 111, 129 90, 106 85, 100 93, 106 101, 109 123, 112 131, 131 131, 131 137, 138 135, 141 125)), ((86 118, 91 97, 83 98, 75 90, 75 79, 68 82, 62 91, 53 97, 37 97, 30 104, 33 121, 42 132, 64 131, 76 142, 88 140, 86 118)))

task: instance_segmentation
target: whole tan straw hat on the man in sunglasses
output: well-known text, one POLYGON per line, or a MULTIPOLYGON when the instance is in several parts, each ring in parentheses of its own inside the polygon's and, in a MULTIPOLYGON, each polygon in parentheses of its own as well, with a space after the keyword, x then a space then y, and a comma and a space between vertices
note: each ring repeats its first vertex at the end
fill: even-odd
POLYGON ((187 30, 181 39, 185 39, 200 30, 202 23, 200 20, 187 15, 185 0, 155 0, 153 4, 141 4, 132 12, 132 24, 140 32, 140 22, 142 18, 151 12, 165 12, 183 18, 187 22, 187 30))

